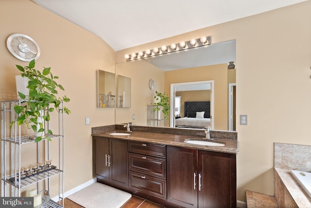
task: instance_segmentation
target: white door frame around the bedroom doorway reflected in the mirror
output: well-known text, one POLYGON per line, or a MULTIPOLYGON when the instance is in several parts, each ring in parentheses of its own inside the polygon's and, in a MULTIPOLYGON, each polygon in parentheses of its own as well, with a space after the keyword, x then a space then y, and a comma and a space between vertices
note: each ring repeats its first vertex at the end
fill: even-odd
MULTIPOLYGON (((175 106, 175 87, 180 85, 194 85, 194 84, 210 84, 210 123, 211 129, 214 129, 214 80, 199 81, 199 82, 185 82, 185 83, 172 83, 170 106, 175 106)), ((170 127, 175 127, 175 111, 170 110, 170 127)))

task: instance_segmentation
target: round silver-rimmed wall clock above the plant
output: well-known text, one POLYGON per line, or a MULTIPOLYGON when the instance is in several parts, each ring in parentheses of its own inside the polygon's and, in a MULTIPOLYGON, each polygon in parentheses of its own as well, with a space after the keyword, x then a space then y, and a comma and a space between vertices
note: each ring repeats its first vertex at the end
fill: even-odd
POLYGON ((40 56, 40 48, 33 38, 24 34, 10 35, 6 41, 9 52, 22 61, 31 61, 40 56))

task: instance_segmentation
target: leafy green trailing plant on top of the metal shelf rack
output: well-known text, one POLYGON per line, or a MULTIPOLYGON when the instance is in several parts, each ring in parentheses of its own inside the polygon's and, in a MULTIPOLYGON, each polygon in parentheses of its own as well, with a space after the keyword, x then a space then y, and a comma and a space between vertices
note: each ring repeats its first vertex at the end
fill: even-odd
MULTIPOLYGON (((28 66, 22 67, 16 65, 17 69, 21 71, 21 76, 29 79, 27 88, 29 89, 29 96, 18 91, 18 96, 21 99, 21 105, 15 105, 14 110, 18 117, 15 121, 10 123, 10 128, 17 122, 17 125, 25 124, 27 128, 33 129, 37 134, 35 142, 40 141, 44 133, 53 134, 50 129, 46 131, 44 122, 50 121, 50 113, 54 109, 58 110, 61 102, 69 102, 70 99, 65 95, 62 98, 57 98, 57 89, 64 90, 64 88, 57 84, 55 80, 57 76, 53 76, 51 67, 39 71, 35 69, 35 60, 29 62, 28 66), (44 113, 44 110, 46 113, 44 113)), ((64 107, 63 111, 70 114, 70 110, 64 107)), ((64 113, 62 112, 62 113, 64 113)), ((51 140, 49 136, 45 137, 51 140)))

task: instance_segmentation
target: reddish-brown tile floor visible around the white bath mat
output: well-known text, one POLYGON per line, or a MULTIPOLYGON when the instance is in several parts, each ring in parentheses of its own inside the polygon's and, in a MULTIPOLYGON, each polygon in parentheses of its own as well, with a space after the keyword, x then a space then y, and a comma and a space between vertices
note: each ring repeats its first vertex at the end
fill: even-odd
MULTIPOLYGON (((83 208, 69 199, 64 201, 65 208, 83 208)), ((149 202, 137 196, 132 196, 121 208, 164 208, 161 205, 149 202)))

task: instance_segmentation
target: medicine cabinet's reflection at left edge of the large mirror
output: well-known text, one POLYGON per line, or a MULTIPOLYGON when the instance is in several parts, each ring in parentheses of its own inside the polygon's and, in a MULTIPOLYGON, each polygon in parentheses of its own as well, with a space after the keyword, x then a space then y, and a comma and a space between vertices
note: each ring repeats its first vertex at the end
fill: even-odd
POLYGON ((117 107, 131 107, 131 78, 118 75, 117 107))

